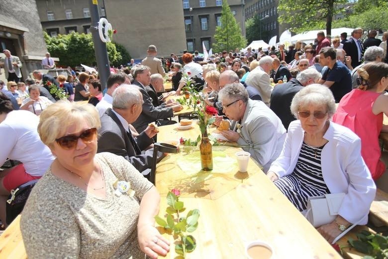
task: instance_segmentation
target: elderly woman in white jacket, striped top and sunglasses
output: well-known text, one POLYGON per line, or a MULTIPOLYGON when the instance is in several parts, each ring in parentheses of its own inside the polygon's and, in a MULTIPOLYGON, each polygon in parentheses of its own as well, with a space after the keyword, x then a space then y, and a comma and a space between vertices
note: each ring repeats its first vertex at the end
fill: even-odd
POLYGON ((302 213, 308 197, 345 193, 336 219, 317 230, 332 242, 352 224, 365 225, 376 185, 361 157, 361 140, 350 129, 330 122, 335 112, 331 91, 321 85, 300 90, 292 100, 282 153, 267 173, 302 213))

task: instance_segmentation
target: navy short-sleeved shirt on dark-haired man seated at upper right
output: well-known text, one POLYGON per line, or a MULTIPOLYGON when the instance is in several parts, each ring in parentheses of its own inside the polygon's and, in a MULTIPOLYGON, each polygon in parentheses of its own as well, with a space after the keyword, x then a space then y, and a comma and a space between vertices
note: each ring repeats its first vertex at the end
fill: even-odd
POLYGON ((336 103, 339 103, 344 95, 352 91, 350 71, 341 61, 337 61, 332 69, 328 68, 325 72, 322 70, 322 80, 334 82, 330 90, 336 103))

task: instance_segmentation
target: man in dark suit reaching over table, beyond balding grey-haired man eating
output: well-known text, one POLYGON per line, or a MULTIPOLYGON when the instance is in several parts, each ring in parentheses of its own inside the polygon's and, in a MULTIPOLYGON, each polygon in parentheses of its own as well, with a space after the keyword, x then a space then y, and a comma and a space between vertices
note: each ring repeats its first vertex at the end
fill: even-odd
POLYGON ((139 87, 140 93, 143 95, 143 110, 139 118, 132 124, 133 127, 138 132, 141 132, 152 122, 158 121, 159 125, 171 124, 166 119, 174 117, 173 112, 181 111, 183 109, 182 105, 178 104, 171 107, 158 108, 152 104, 152 99, 145 89, 151 82, 149 67, 144 65, 138 66, 135 70, 134 78, 135 81, 133 84, 139 87))

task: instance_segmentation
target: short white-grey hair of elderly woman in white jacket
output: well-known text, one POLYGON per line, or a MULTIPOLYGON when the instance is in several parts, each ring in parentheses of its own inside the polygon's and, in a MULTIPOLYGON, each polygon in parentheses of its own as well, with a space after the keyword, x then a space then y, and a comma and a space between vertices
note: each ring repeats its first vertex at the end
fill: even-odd
POLYGON ((333 93, 320 84, 308 85, 297 92, 291 102, 291 113, 297 118, 299 108, 307 105, 326 106, 329 119, 333 117, 336 110, 333 93))

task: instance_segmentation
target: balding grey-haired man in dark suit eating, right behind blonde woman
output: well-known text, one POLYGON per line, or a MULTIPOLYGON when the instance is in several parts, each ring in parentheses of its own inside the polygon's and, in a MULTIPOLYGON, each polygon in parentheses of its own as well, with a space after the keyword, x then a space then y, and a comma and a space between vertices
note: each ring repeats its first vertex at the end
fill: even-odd
POLYGON ((152 137, 157 133, 154 126, 148 126, 133 137, 128 125, 139 117, 142 103, 143 97, 134 86, 119 86, 113 93, 113 109, 108 108, 101 117, 97 147, 98 153, 110 152, 124 157, 139 172, 151 168, 153 149, 144 154, 141 151, 154 142, 152 137))

